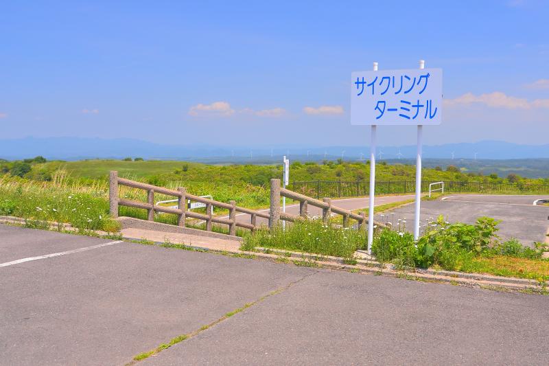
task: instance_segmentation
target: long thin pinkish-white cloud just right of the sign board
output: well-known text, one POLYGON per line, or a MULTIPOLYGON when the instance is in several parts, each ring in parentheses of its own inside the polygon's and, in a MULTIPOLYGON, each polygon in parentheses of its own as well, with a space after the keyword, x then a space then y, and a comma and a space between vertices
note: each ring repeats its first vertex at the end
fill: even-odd
POLYGON ((446 106, 484 104, 492 108, 506 109, 530 109, 530 108, 549 108, 549 99, 536 99, 528 101, 524 98, 512 97, 501 91, 474 95, 466 93, 455 99, 444 100, 446 106))

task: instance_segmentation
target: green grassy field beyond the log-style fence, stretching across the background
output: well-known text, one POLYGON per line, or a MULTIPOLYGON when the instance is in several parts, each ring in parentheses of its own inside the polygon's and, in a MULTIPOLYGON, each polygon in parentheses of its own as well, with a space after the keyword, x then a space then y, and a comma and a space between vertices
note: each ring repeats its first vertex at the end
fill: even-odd
MULTIPOLYGON (((0 174, 3 173, 0 175, 0 213, 32 219, 62 220, 86 228, 104 227, 107 224, 101 220, 108 215, 107 191, 110 170, 117 170, 121 177, 153 185, 172 189, 186 187, 187 192, 196 195, 211 194, 217 201, 235 200, 237 205, 249 208, 268 207, 269 181, 271 178, 281 178, 282 175, 281 165, 206 165, 185 161, 108 159, 64 162, 45 161, 41 157, 25 161, 0 161, 0 174), (84 200, 93 203, 93 207, 87 209, 80 205, 72 205, 67 201, 68 196, 73 197, 75 194, 80 195, 81 202, 84 200), (34 205, 34 201, 45 203, 49 211, 44 211, 44 207, 38 204, 34 205), (72 211, 73 209, 75 211, 72 211), (88 217, 87 212, 82 209, 93 211, 93 218, 88 217)), ((414 165, 380 163, 376 170, 377 181, 410 181, 415 175, 414 165)), ((291 166, 291 176, 292 181, 367 181, 369 164, 343 161, 325 161, 321 164, 294 162, 291 166)), ((423 177, 426 181, 508 182, 508 179, 498 176, 464 174, 454 168, 424 169, 423 177)), ((522 183, 545 183, 543 179, 522 179, 513 176, 513 181, 517 180, 522 183)), ((145 192, 141 190, 122 188, 120 194, 124 198, 146 201, 145 192)), ((156 201, 170 198, 172 197, 155 195, 156 201)), ((392 207, 379 209, 390 208, 392 207)), ((120 214, 145 217, 144 210, 127 207, 121 207, 120 214)), ((155 220, 175 222, 176 218, 173 215, 157 215, 155 220)))

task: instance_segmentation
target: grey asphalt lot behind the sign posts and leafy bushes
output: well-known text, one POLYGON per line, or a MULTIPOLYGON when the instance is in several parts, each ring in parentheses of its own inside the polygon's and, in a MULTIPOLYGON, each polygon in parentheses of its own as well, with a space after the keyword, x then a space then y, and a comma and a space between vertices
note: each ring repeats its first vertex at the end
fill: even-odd
MULTIPOLYGON (((549 207, 533 205, 540 198, 549 199, 549 196, 449 195, 442 200, 422 201, 421 223, 425 225, 429 218, 443 215, 449 222, 473 224, 480 216, 489 216, 502 221, 498 231, 502 239, 517 238, 522 244, 532 245, 533 242, 544 242, 549 228, 549 207)), ((413 204, 391 212, 395 213, 394 220, 406 219, 406 227, 412 231, 413 204)), ((389 217, 393 219, 392 215, 389 217)))

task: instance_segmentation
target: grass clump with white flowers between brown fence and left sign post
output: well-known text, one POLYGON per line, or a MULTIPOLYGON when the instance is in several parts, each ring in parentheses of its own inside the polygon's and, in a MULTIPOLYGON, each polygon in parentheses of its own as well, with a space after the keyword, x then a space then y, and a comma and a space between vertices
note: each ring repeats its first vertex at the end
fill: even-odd
POLYGON ((365 231, 343 229, 323 225, 319 220, 303 220, 281 226, 272 231, 267 229, 246 233, 242 250, 252 251, 256 247, 284 249, 353 258, 357 249, 363 249, 366 243, 365 231))

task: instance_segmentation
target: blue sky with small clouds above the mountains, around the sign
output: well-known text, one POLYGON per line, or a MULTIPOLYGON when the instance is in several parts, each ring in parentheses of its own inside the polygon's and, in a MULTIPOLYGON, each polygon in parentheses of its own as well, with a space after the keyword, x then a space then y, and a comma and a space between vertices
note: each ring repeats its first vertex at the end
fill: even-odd
MULTIPOLYGON (((368 144, 351 71, 444 71, 425 144, 549 135, 547 1, 12 1, 0 5, 0 138, 368 144)), ((414 127, 378 129, 413 144, 414 127)))

